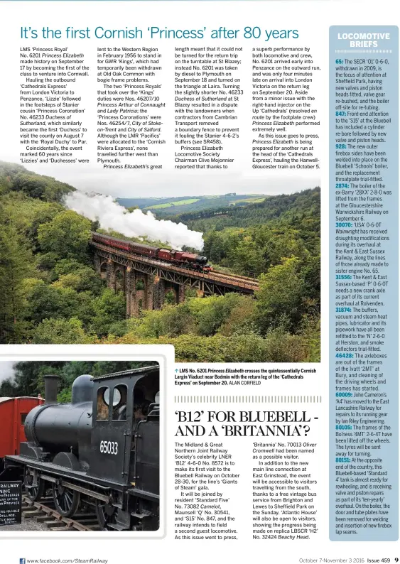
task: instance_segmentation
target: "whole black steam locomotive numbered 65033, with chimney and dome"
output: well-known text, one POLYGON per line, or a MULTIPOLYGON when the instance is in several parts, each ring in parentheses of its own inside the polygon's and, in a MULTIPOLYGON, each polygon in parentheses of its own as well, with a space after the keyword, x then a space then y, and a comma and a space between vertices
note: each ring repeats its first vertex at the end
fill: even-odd
POLYGON ((20 455, 6 457, 0 481, 23 480, 33 501, 51 487, 65 517, 94 506, 103 529, 156 531, 158 365, 79 376, 71 403, 56 403, 57 383, 58 376, 45 376, 45 404, 26 416, 27 442, 20 455))

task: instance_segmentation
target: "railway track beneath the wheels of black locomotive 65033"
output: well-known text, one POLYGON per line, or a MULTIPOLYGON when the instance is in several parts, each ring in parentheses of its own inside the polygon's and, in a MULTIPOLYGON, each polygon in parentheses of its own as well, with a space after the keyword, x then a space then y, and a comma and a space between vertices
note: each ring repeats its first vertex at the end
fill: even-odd
POLYGON ((74 519, 63 517, 56 511, 53 498, 45 497, 31 501, 26 495, 22 498, 22 515, 25 519, 35 519, 50 531, 100 531, 99 521, 94 513, 76 514, 74 519))

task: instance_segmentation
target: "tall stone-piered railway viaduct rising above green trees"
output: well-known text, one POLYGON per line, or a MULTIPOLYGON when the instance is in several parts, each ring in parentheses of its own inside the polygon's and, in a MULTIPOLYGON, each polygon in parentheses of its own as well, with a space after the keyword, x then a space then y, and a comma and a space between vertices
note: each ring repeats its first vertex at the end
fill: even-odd
POLYGON ((115 249, 92 241, 94 266, 107 287, 126 295, 126 317, 141 310, 159 310, 168 296, 171 303, 183 303, 187 288, 198 296, 225 295, 227 292, 253 294, 258 281, 221 272, 201 272, 115 249))

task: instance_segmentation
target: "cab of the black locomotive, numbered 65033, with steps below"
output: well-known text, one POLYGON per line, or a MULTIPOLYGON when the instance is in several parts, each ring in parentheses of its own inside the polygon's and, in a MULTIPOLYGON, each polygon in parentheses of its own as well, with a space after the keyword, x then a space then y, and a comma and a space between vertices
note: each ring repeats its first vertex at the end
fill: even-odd
POLYGON ((144 375, 141 369, 140 376, 128 371, 94 379, 90 475, 127 488, 124 510, 97 506, 102 526, 117 530, 158 528, 158 371, 157 366, 144 375))

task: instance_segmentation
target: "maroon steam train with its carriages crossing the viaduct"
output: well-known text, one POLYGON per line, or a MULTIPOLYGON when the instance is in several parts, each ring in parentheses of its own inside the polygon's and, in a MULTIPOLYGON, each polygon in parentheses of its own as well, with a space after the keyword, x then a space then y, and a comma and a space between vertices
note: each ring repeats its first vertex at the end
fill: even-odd
POLYGON ((177 266, 183 266, 185 268, 203 272, 212 270, 212 266, 207 264, 207 256, 202 256, 200 254, 186 253, 185 251, 171 251, 170 249, 159 249, 155 246, 124 241, 124 239, 116 239, 115 237, 95 232, 92 233, 92 239, 94 242, 114 246, 116 249, 122 249, 134 254, 141 254, 148 256, 151 259, 172 262, 177 266))

